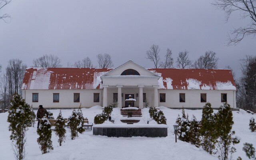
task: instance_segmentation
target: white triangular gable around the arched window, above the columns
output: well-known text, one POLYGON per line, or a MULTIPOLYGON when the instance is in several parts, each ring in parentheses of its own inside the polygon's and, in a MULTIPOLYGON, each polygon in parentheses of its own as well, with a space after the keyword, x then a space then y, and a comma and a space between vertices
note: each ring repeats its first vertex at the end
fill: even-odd
POLYGON ((121 66, 115 68, 114 70, 111 70, 110 72, 104 74, 101 76, 101 78, 105 76, 121 76, 122 72, 124 72, 127 69, 133 69, 139 72, 140 76, 156 76, 159 77, 158 74, 155 74, 146 68, 134 63, 132 60, 129 60, 128 62, 122 64, 121 66))

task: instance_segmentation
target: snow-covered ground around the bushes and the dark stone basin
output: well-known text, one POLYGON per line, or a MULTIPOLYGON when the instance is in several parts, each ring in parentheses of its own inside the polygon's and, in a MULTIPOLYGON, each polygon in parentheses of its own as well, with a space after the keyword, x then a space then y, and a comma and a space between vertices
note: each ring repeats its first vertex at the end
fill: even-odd
MULTIPOLYGON (((164 112, 167 119, 168 136, 165 138, 116 138, 106 136, 94 136, 90 129, 86 129, 84 134, 79 134, 75 140, 70 138, 70 130, 67 129, 66 142, 62 146, 58 146, 57 137, 52 132, 52 142, 54 150, 50 153, 42 154, 36 142, 38 135, 36 127, 27 131, 26 160, 218 160, 216 156, 212 156, 200 148, 177 140, 175 143, 175 135, 173 134, 173 124, 181 110, 172 110, 160 106, 160 110, 164 112)), ((60 110, 51 110, 54 118, 58 116, 60 110)), ((35 111, 36 112, 36 111, 35 111)), ((93 122, 94 116, 102 112, 100 106, 92 108, 83 108, 84 117, 89 122, 93 122)), ((194 114, 197 120, 202 118, 202 110, 185 110, 189 118, 194 114)), ((217 112, 217 110, 214 110, 217 112)), ((62 110, 64 118, 68 118, 72 110, 62 110)), ((145 124, 149 118, 148 109, 142 109, 142 120, 139 122, 145 124)), ((0 113, 0 160, 14 160, 12 151, 10 132, 8 131, 7 120, 8 113, 0 113)), ((237 152, 233 158, 236 160, 238 156, 243 160, 248 160, 244 151, 242 151, 243 143, 249 142, 254 144, 256 148, 256 132, 249 130, 249 120, 256 115, 248 114, 244 110, 233 112, 234 126, 236 136, 241 137, 240 144, 236 145, 237 152)), ((114 108, 112 118, 115 118, 115 124, 121 123, 119 120, 120 109, 114 108)), ((106 122, 111 123, 111 122, 106 122)), ((150 123, 153 123, 152 121, 150 123)))

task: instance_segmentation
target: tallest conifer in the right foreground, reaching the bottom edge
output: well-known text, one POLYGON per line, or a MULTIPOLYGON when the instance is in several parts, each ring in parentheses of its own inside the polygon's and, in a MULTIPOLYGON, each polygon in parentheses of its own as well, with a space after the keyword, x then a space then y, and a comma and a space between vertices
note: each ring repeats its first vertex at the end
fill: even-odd
POLYGON ((236 148, 231 146, 231 144, 238 144, 240 138, 232 137, 235 132, 231 131, 233 122, 233 114, 230 105, 226 102, 220 106, 216 116, 216 135, 217 135, 217 152, 218 158, 220 160, 228 160, 232 157, 232 153, 236 152, 236 148))

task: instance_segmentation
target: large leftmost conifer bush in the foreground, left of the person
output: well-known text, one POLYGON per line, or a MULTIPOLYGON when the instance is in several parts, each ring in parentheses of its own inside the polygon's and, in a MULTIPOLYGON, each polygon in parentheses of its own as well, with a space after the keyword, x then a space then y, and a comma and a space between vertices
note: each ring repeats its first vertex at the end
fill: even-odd
POLYGON ((10 140, 14 149, 14 156, 17 160, 23 160, 26 152, 26 131, 34 120, 34 111, 20 95, 14 94, 8 110, 7 122, 11 131, 10 140))

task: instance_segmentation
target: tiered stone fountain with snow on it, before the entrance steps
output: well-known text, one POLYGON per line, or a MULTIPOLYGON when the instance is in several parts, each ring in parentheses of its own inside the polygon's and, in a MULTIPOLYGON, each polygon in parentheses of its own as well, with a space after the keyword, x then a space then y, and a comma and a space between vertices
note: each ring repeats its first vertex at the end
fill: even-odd
POLYGON ((125 110, 128 113, 128 117, 120 119, 121 122, 127 123, 127 124, 134 124, 134 123, 140 122, 140 118, 132 117, 132 113, 136 112, 136 110, 138 110, 137 107, 131 107, 132 103, 135 101, 136 100, 133 99, 131 95, 129 95, 129 99, 125 100, 125 102, 128 102, 129 106, 126 108, 123 108, 123 110, 125 110))

